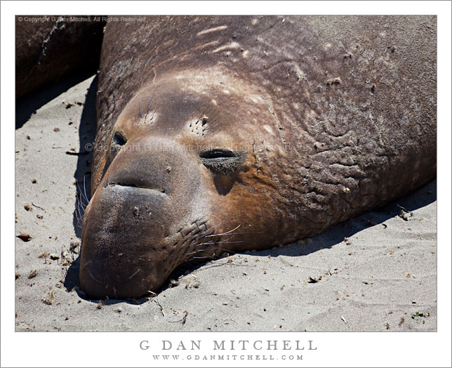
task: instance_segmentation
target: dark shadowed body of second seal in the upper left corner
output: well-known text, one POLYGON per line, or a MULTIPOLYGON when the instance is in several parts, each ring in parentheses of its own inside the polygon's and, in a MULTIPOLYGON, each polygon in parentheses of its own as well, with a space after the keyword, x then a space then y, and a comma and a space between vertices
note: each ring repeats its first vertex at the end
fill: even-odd
POLYGON ((16 98, 74 70, 95 73, 105 21, 102 17, 95 21, 94 15, 89 16, 91 21, 77 18, 76 15, 15 17, 16 98), (44 22, 27 18, 41 18, 44 22))

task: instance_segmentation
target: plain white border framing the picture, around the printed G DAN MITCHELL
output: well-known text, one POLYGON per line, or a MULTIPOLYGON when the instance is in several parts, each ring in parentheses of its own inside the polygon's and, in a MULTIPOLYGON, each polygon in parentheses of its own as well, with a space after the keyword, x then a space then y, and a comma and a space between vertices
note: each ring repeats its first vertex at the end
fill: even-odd
MULTIPOLYGON (((2 1, 1 2, 1 367, 152 367, 161 340, 314 340, 310 367, 451 367, 451 2, 450 1, 2 1), (430 14, 438 15, 438 332, 437 333, 16 333, 14 332, 15 14, 430 14), (64 335, 61 335, 64 334, 64 335), (70 334, 70 335, 68 335, 70 334), (71 340, 72 349, 58 348, 71 340), (157 347, 157 348, 156 348, 157 347), (69 354, 69 355, 68 355, 69 354)), ((206 350, 204 350, 206 351, 206 350)), ((203 352, 204 352, 203 351, 203 352)), ((173 352, 172 352, 173 353, 173 352)), ((309 354, 308 354, 309 353, 309 354)), ((166 361, 166 366, 266 367, 280 361, 166 361)))

